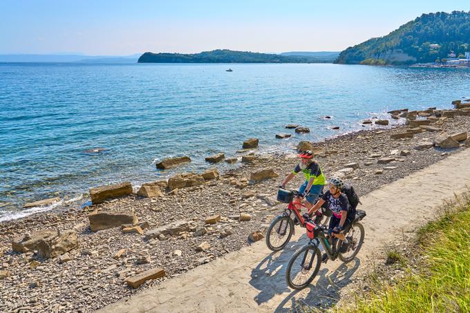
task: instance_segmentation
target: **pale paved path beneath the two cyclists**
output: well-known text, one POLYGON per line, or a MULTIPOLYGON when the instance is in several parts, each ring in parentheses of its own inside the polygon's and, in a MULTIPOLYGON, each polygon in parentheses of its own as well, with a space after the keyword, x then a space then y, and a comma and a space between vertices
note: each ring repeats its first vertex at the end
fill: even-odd
POLYGON ((470 149, 465 149, 368 193, 361 198, 364 205, 360 209, 367 212, 361 252, 348 265, 339 260, 322 264, 305 290, 291 290, 285 283, 290 256, 307 242, 304 230, 297 228, 294 240, 282 252, 272 254, 260 241, 100 312, 288 312, 298 301, 330 305, 339 300, 341 289, 353 276, 367 271, 367 265, 377 259, 377 251, 441 214, 436 207, 454 192, 466 190, 469 183, 470 149))

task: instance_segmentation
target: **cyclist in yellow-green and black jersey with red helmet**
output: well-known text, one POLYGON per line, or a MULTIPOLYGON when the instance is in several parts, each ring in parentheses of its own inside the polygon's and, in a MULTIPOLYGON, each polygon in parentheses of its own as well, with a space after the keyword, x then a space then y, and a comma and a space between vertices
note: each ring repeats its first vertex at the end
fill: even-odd
POLYGON ((321 167, 317 161, 313 160, 312 151, 302 151, 299 154, 300 163, 297 164, 294 171, 290 173, 286 178, 284 178, 281 188, 285 189, 285 184, 287 184, 294 176, 302 171, 303 176, 305 176, 306 181, 303 182, 299 188, 299 193, 302 198, 306 198, 305 205, 307 209, 310 210, 312 205, 317 201, 323 187, 325 186, 325 176, 321 171, 321 167))

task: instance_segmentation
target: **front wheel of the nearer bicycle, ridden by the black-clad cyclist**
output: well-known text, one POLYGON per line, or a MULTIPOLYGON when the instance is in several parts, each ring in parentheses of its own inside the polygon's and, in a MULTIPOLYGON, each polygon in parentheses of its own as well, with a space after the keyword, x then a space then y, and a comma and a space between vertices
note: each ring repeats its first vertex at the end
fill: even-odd
POLYGON ((306 245, 298 249, 289 260, 285 280, 289 287, 301 290, 312 283, 320 269, 320 249, 316 245, 306 245))

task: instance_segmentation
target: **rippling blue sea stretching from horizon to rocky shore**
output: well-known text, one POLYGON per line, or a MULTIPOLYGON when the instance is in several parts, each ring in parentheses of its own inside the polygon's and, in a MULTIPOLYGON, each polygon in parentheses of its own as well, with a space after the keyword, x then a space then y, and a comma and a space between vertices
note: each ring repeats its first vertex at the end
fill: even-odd
POLYGON ((199 171, 205 156, 236 155, 249 137, 260 138, 263 151, 282 151, 338 134, 329 126, 362 129, 365 117, 391 109, 450 107, 470 94, 469 74, 333 64, 0 64, 0 220, 32 212, 21 209, 32 200, 77 200, 100 184, 199 171), (276 140, 293 133, 283 128, 292 122, 312 132, 276 140), (97 147, 106 150, 84 152, 97 147), (156 159, 175 155, 193 162, 156 169, 156 159))

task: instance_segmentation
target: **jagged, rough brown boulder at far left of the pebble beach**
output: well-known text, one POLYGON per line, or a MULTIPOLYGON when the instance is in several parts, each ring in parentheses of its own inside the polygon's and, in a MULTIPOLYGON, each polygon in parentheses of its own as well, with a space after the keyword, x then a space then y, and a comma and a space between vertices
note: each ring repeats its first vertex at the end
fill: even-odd
POLYGON ((68 230, 57 236, 49 236, 39 240, 37 244, 37 255, 41 258, 55 258, 77 247, 77 234, 75 231, 68 230))

